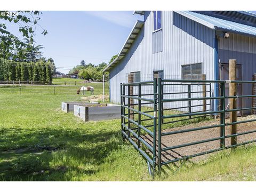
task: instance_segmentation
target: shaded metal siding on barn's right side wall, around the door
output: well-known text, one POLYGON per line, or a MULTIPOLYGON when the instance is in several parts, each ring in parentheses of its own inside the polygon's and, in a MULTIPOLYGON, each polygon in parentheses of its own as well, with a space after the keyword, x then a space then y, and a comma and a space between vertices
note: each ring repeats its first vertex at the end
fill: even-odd
MULTIPOLYGON (((242 65, 242 80, 252 80, 256 73, 256 38, 243 35, 230 34, 228 38, 220 38, 219 61, 228 63, 229 59, 236 59, 242 65)), ((243 95, 252 94, 252 85, 243 84, 243 95)), ((243 107, 251 107, 251 98, 243 99, 243 107)))

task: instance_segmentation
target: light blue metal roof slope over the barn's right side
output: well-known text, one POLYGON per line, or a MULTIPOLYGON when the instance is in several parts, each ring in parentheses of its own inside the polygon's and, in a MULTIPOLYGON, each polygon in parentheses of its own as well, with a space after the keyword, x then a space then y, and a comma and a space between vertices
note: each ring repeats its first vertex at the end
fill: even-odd
POLYGON ((244 25, 242 23, 228 21, 225 19, 220 19, 212 17, 209 15, 204 15, 201 13, 195 13, 192 11, 175 11, 183 16, 192 19, 196 22, 201 23, 207 27, 215 30, 229 31, 231 33, 238 33, 250 36, 256 36, 256 27, 244 25))

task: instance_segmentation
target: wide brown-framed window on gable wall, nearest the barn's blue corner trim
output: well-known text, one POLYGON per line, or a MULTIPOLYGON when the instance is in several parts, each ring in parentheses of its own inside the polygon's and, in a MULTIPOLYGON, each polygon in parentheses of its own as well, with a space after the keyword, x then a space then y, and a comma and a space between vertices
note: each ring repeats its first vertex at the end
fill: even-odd
POLYGON ((202 79, 202 63, 182 65, 182 79, 200 80, 202 79))

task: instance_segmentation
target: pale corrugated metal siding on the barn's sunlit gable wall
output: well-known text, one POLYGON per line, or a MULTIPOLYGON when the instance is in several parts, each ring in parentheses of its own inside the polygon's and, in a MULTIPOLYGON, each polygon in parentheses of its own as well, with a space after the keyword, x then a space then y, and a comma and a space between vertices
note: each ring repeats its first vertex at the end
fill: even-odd
POLYGON ((162 18, 163 51, 153 54, 152 17, 145 11, 140 34, 118 66, 110 70, 111 102, 120 102, 119 83, 126 82, 133 71, 140 71, 141 81, 152 80, 153 70, 164 70, 164 78, 179 79, 181 65, 202 62, 206 79, 214 79, 214 31, 173 11, 163 11, 162 18))

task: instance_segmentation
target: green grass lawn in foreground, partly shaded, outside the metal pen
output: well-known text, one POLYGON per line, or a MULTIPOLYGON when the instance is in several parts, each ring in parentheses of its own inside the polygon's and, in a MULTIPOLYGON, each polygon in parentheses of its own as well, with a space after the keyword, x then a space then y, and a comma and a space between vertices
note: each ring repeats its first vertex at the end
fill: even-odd
MULTIPOLYGON (((120 137, 120 120, 83 122, 60 110, 73 94, 0 92, 0 180, 150 181, 145 159, 120 137)), ((256 147, 172 166, 154 180, 255 180, 256 147)))

